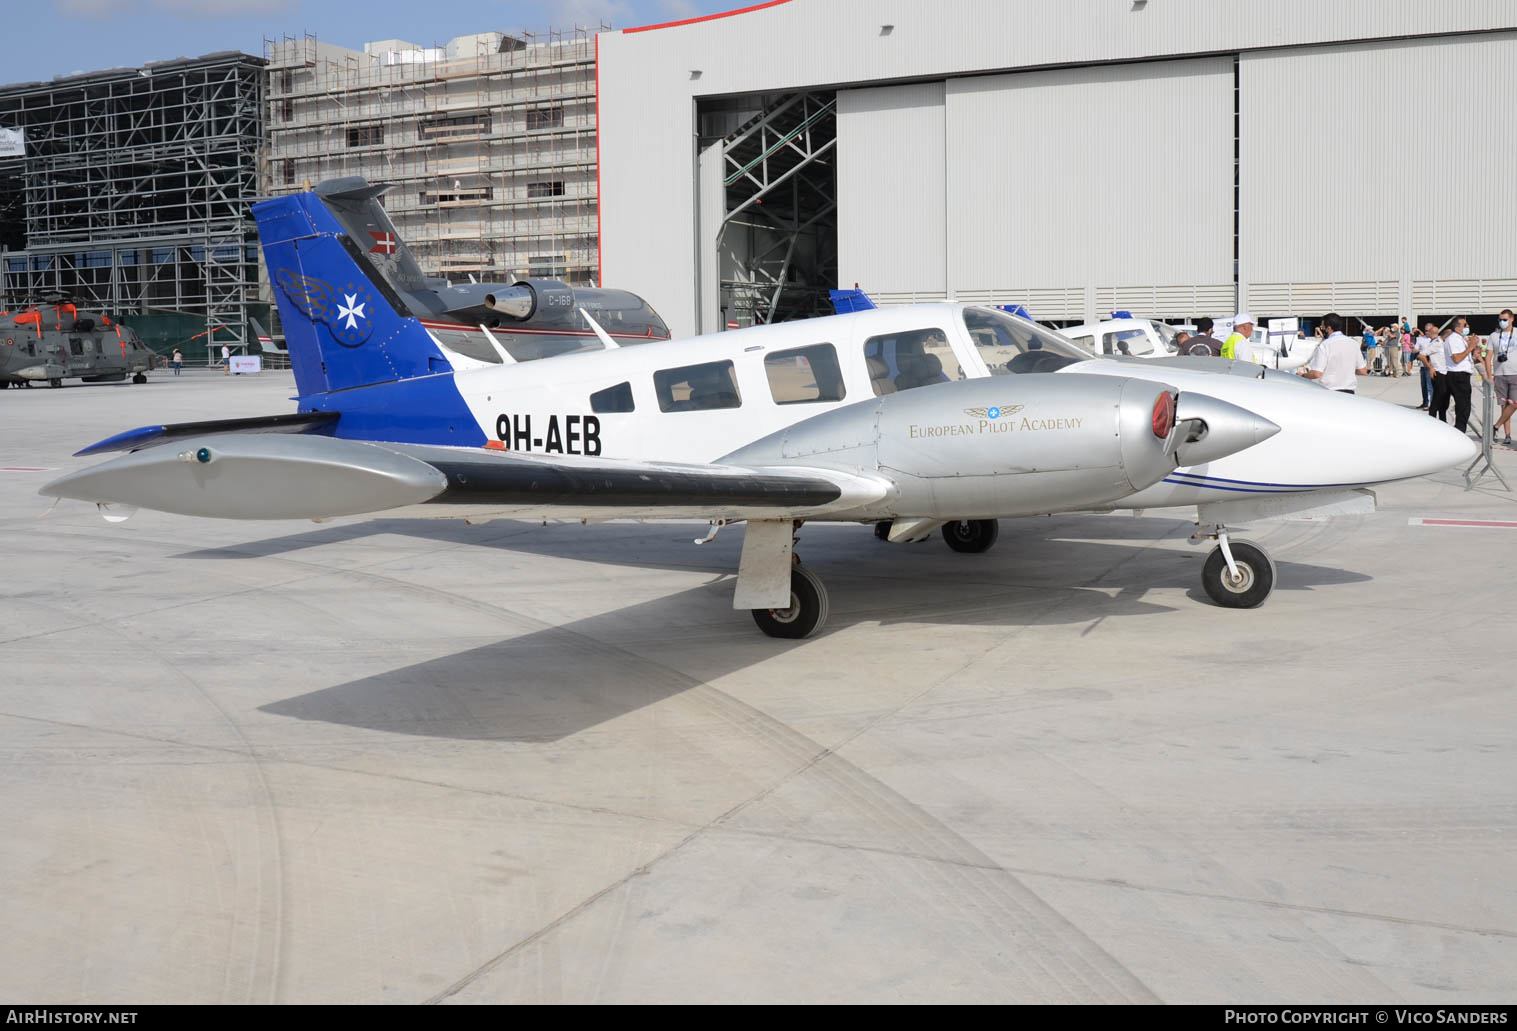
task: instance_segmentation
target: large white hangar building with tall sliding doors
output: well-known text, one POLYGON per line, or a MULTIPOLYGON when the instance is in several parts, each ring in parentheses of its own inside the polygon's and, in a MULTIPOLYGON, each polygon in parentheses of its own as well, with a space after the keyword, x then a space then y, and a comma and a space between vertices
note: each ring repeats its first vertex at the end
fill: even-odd
POLYGON ((677 335, 1517 300, 1517 5, 772 0, 598 36, 601 282, 677 335))

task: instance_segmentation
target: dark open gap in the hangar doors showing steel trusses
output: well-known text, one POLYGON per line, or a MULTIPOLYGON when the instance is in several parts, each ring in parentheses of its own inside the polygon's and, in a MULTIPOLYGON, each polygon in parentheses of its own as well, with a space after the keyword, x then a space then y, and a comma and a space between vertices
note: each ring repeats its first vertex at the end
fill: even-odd
POLYGON ((701 329, 830 315, 837 282, 837 94, 702 100, 701 329))

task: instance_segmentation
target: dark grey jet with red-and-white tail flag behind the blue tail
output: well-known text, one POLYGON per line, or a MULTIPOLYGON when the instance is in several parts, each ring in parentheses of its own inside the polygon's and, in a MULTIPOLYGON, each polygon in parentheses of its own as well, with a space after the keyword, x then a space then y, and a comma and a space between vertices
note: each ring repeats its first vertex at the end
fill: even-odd
MULTIPOLYGON (((344 249, 375 288, 402 317, 416 317, 438 343, 488 364, 514 364, 578 350, 599 350, 669 340, 669 327, 646 300, 625 290, 570 287, 555 279, 511 284, 454 284, 422 274, 379 197, 387 183, 361 176, 328 179, 313 193, 344 230, 344 249), (601 337, 601 332, 605 337, 601 337)), ((293 270, 276 270, 290 279, 293 270)), ((294 279, 278 284, 299 290, 294 279)), ((343 284, 335 284, 341 287, 343 284)), ((353 284, 353 290, 367 287, 353 284)), ((355 294, 356 296, 356 294, 355 294)), ((258 331, 259 341, 269 337, 258 331)))

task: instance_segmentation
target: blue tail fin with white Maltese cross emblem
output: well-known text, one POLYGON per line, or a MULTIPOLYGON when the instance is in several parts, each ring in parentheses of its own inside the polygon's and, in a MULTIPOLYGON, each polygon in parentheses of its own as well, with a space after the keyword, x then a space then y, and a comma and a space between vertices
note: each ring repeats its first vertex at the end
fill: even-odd
POLYGON ((253 218, 302 397, 454 371, 317 193, 256 203, 253 218))

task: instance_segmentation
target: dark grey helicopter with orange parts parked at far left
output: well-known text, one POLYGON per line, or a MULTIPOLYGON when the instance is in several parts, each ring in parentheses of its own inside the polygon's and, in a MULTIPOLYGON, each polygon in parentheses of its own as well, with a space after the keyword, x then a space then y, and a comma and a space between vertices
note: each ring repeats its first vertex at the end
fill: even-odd
POLYGON ((0 387, 62 387, 65 379, 109 384, 127 376, 146 384, 147 370, 158 364, 130 326, 80 311, 65 296, 0 312, 0 387))

